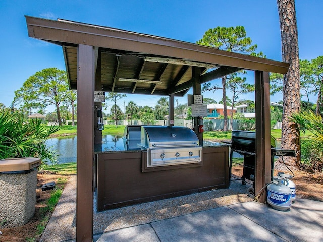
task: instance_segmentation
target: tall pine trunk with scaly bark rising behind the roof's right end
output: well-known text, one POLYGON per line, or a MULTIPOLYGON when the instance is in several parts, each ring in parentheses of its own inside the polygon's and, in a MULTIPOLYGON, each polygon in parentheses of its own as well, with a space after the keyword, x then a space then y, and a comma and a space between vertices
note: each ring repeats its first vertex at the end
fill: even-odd
POLYGON ((287 74, 284 75, 283 85, 283 120, 282 120, 282 144, 285 149, 293 149, 295 158, 284 158, 284 161, 300 167, 300 133, 296 123, 289 117, 300 111, 300 74, 298 56, 298 33, 296 24, 296 11, 294 0, 277 0, 279 21, 282 38, 283 62, 290 63, 287 74))

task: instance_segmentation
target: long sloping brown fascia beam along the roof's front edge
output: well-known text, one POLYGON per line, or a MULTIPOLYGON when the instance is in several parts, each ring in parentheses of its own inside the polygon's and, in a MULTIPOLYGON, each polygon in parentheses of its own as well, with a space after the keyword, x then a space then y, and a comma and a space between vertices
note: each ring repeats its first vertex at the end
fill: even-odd
POLYGON ((288 63, 256 56, 125 30, 94 26, 74 21, 55 21, 25 16, 29 37, 60 45, 87 44, 107 49, 187 59, 216 66, 234 66, 247 70, 287 73, 288 63))

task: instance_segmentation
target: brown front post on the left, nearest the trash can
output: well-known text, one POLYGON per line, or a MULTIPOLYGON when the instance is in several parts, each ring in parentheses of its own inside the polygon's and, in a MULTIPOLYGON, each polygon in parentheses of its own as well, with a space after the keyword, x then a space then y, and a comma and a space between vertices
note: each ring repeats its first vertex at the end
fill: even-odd
POLYGON ((77 50, 76 241, 92 241, 94 157, 94 51, 77 50))

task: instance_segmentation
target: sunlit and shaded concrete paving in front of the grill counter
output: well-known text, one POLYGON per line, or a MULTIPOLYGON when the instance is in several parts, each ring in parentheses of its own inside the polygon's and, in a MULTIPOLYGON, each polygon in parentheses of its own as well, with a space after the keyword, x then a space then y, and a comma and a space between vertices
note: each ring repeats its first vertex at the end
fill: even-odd
MULTIPOLYGON (((248 199, 245 194, 239 194, 239 189, 243 188, 241 191, 244 191, 245 187, 237 182, 225 191, 225 195, 222 194, 224 190, 213 190, 182 198, 95 212, 93 241, 323 241, 323 202, 296 199, 290 211, 277 211, 269 205, 248 199), (230 191, 233 194, 230 195, 230 191), (200 205, 207 200, 203 196, 213 197, 210 200, 212 205, 207 204, 207 208, 211 209, 200 205), (234 202, 228 203, 227 196, 234 202), (140 216, 134 215, 138 215, 140 211, 137 206, 144 206, 147 208, 146 212, 151 212, 154 207, 160 206, 159 203, 164 204, 163 208, 153 212, 158 213, 170 208, 170 204, 178 199, 193 202, 188 205, 176 204, 176 207, 186 207, 186 212, 183 210, 175 216, 150 216, 146 220, 140 220, 140 216), (198 209, 194 209, 195 205, 198 209), (125 214, 130 216, 129 221, 132 218, 131 223, 125 222, 125 214), (109 217, 105 217, 108 215, 109 217)), ((72 207, 75 206, 75 195, 71 196, 73 190, 70 189, 75 188, 73 183, 75 177, 66 186, 40 241, 74 241, 75 210, 72 207), (59 211, 65 208, 65 213, 59 211)), ((75 194, 75 190, 73 193, 75 194)), ((146 217, 144 211, 140 213, 146 217)))

